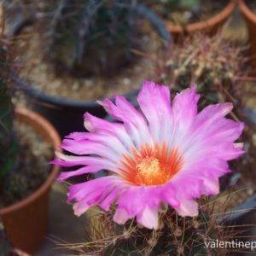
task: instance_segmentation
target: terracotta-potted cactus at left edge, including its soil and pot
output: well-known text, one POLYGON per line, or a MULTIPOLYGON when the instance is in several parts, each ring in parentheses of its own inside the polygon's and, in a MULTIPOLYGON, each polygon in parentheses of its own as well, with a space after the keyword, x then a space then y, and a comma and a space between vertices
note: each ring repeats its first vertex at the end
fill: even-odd
POLYGON ((38 113, 14 108, 9 88, 11 65, 9 49, 1 38, 0 218, 11 245, 33 253, 47 229, 49 189, 58 173, 58 167, 49 168, 47 160, 53 149, 59 150, 60 137, 38 113))

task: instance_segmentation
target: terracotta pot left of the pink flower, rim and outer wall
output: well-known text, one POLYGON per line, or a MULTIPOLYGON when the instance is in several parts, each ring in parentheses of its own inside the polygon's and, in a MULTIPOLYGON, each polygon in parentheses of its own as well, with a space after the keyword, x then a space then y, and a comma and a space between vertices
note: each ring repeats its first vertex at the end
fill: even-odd
MULTIPOLYGON (((45 140, 60 150, 61 138, 46 119, 26 108, 17 108, 16 119, 31 125, 45 140)), ((33 167, 33 166, 32 166, 33 167)), ((53 166, 44 184, 22 201, 0 209, 0 216, 9 241, 26 253, 34 253, 44 241, 47 230, 49 190, 59 168, 53 166)))

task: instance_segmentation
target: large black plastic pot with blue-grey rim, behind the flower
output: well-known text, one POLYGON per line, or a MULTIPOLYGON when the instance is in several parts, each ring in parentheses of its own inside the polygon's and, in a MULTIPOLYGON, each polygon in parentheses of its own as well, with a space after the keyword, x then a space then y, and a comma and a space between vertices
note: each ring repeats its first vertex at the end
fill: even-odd
MULTIPOLYGON (((155 31, 158 32, 160 38, 163 38, 166 45, 169 45, 171 35, 158 16, 143 5, 138 5, 135 10, 138 17, 148 20, 155 31)), ((25 23, 25 21, 23 22, 25 23)), ((20 32, 20 26, 18 27, 20 32)), ((57 131, 60 132, 61 137, 73 131, 84 131, 83 121, 81 120, 85 112, 90 112, 98 117, 106 116, 106 112, 95 101, 75 101, 45 94, 36 90, 25 79, 20 79, 17 74, 15 75, 15 81, 18 90, 22 90, 28 96, 30 103, 32 103, 32 108, 49 119, 55 125, 57 131)), ((126 96, 129 97, 133 94, 131 92, 126 96)))

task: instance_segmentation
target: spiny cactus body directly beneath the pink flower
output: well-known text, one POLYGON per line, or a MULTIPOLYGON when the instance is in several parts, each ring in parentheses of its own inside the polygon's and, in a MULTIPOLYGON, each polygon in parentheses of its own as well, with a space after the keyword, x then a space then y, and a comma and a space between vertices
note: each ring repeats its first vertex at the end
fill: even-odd
POLYGON ((198 218, 180 218, 169 210, 160 222, 160 230, 136 228, 129 236, 121 236, 104 250, 104 255, 217 255, 217 251, 207 252, 204 243, 219 235, 206 212, 198 218))

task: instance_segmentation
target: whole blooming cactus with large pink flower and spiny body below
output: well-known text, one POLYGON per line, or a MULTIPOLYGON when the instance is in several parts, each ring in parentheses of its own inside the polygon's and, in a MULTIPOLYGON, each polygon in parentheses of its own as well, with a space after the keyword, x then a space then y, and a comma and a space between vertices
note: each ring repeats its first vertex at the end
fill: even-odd
POLYGON ((209 241, 227 241, 204 196, 218 195, 227 161, 243 154, 235 142, 244 125, 225 117, 231 103, 198 111, 199 99, 195 84, 171 103, 167 86, 144 82, 140 109, 123 96, 98 102, 116 122, 85 113, 89 132, 68 135, 62 148, 71 155, 56 154, 52 162, 73 167, 58 181, 102 169, 108 175, 68 185, 77 216, 102 210, 92 224, 95 240, 72 248, 90 255, 208 255, 216 253, 209 241))

